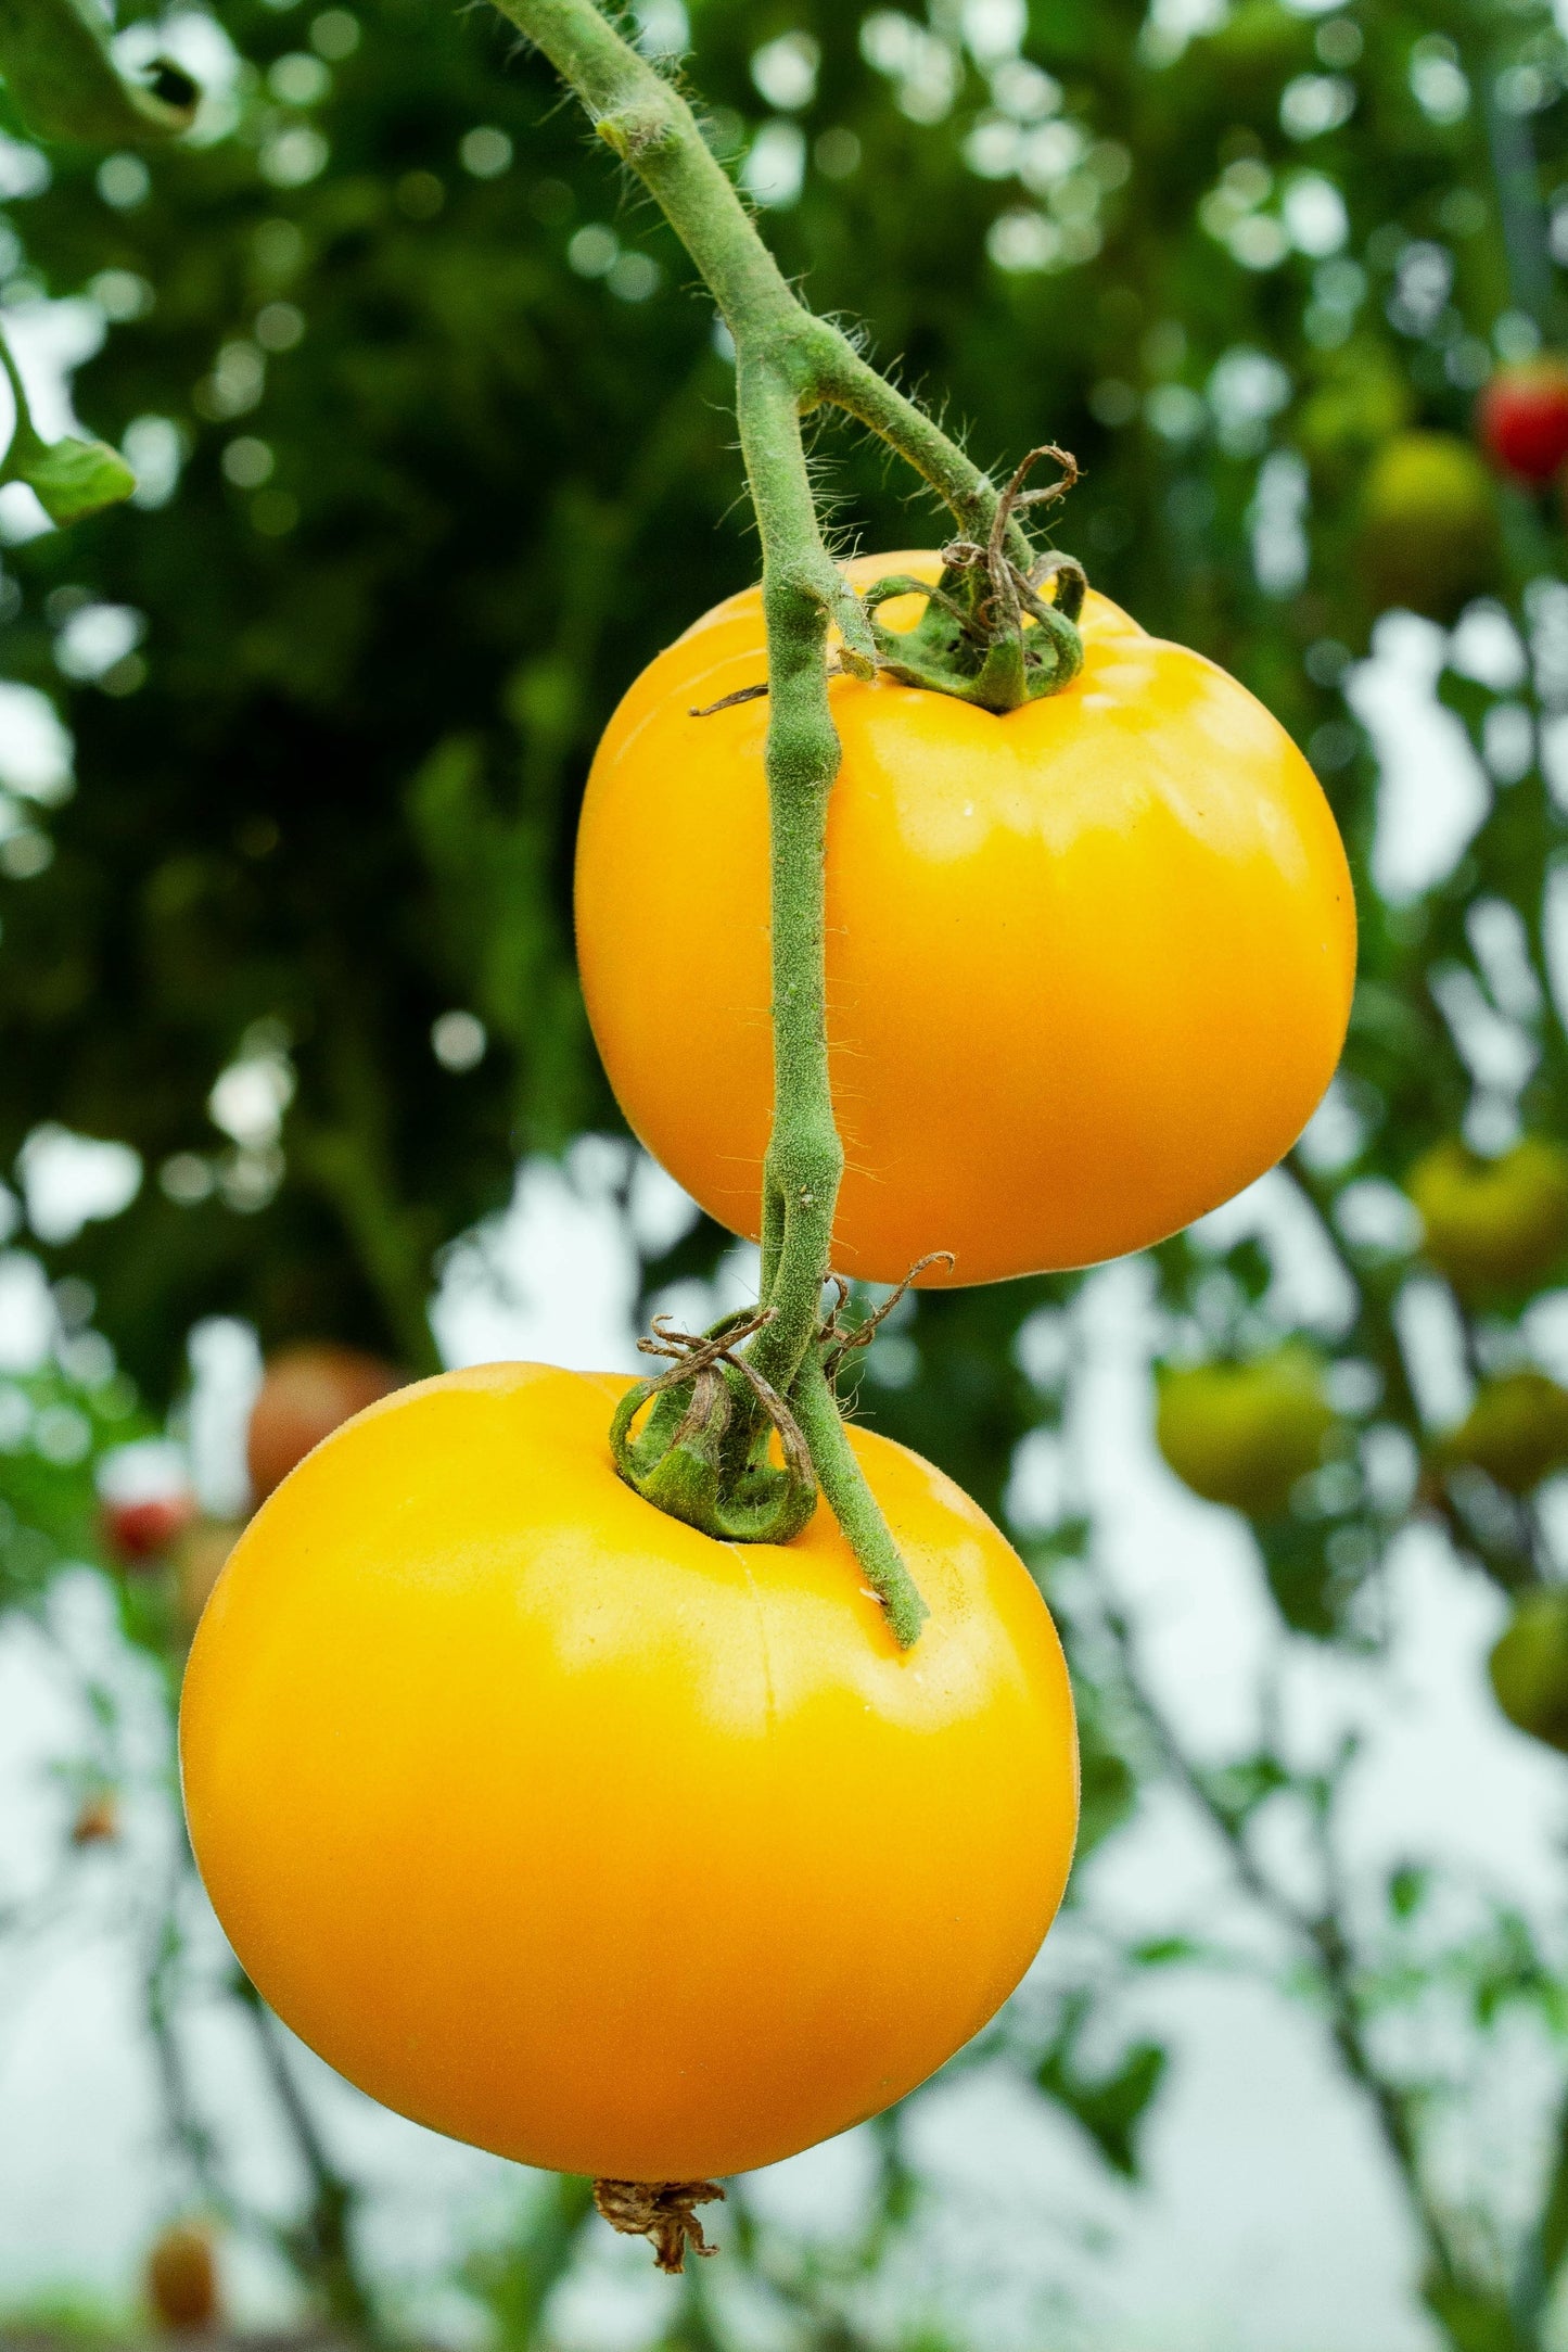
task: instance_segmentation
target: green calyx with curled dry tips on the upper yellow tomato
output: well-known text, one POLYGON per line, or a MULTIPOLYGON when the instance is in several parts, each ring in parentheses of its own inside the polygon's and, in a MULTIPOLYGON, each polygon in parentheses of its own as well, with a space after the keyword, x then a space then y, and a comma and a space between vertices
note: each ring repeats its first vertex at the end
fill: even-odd
POLYGON ((1058 553, 1023 569, 1009 550, 1009 524, 1020 508, 1056 506, 1077 480, 1077 459, 1056 442, 1041 442, 997 499, 985 546, 952 539, 943 548, 943 576, 936 586, 898 572, 875 581, 865 590, 865 609, 879 670, 905 687, 952 694, 994 713, 1018 710, 1072 684, 1084 668, 1077 623, 1088 576, 1074 555, 1058 553), (1041 459, 1060 466, 1058 480, 1044 489, 1025 489, 1041 459), (926 609, 914 628, 891 630, 877 619, 877 609, 905 595, 924 597, 926 609))

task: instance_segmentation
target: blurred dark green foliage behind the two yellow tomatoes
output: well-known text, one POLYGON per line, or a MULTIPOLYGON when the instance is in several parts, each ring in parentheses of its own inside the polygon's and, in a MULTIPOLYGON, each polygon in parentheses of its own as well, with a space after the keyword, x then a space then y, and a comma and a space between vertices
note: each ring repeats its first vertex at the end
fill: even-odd
MULTIPOLYGON (((136 503, 71 532, 26 536, 16 492, 0 503, 0 663, 66 715, 78 774, 66 800, 0 793, 0 1167, 59 1122, 146 1169, 120 1216, 16 1235, 56 1284, 92 1287, 113 1350, 0 1385, 0 1599, 33 1609, 56 1562, 92 1550, 99 1454, 179 1399, 193 1322, 242 1315, 266 1345, 334 1336, 423 1369, 442 1244, 508 1197, 522 1152, 616 1124, 571 971, 576 804, 637 668, 755 564, 712 308, 498 19, 219 0, 202 38, 183 19, 186 54, 174 19, 127 16, 127 56, 172 45, 207 85, 193 139, 52 143, 45 188, 14 89, 0 146, 5 320, 24 360, 40 322, 101 334, 78 412, 141 477, 136 503), (440 1058, 454 1011, 482 1023, 477 1058, 440 1058)), ((1375 1672, 1385 1559, 1413 1519, 1509 1595, 1559 1581, 1540 1496, 1446 1444, 1410 1303, 1446 1317, 1460 1378, 1500 1381, 1540 1348, 1561 1268, 1460 1298, 1403 1192, 1460 1136, 1490 1157, 1519 1127, 1568 1134, 1563 517, 1556 489, 1469 454, 1495 365, 1568 334, 1568 54, 1549 12, 693 0, 686 19, 646 0, 639 24, 672 71, 689 45, 715 151, 809 299, 863 318, 983 461, 1070 445, 1086 477, 1063 543, 1145 626, 1237 670, 1340 816, 1363 976, 1342 1077, 1279 1197, 1345 1305, 1309 1334, 1331 1454, 1255 1522, 1281 1651, 1331 1644, 1375 1672), (1382 894, 1378 776, 1345 687, 1394 593, 1443 623, 1495 600, 1420 640, 1490 783, 1462 854, 1382 894)), ((825 426, 816 454, 846 543, 943 532, 858 435, 825 426)), ((698 1225, 646 1265, 649 1291, 722 1247, 698 1225)), ((1267 1223, 1159 1249, 1164 1355, 1246 1362, 1293 1338, 1309 1317, 1284 1256, 1267 1223)), ((863 1409, 1004 1517, 1020 1442, 1072 1418, 1077 1289, 910 1303, 863 1409)), ((1349 1884, 1356 1740, 1305 1773, 1267 1726, 1255 1755, 1199 1766, 1091 1519, 1067 1498, 1023 1534, 1074 1649, 1088 1842, 1140 1778, 1178 1783, 1366 2098, 1434 2321, 1460 2352, 1533 2352, 1568 2251, 1568 2107, 1530 2211, 1493 2211, 1429 2152, 1469 2074, 1389 2032, 1458 1985, 1476 2067, 1519 2013, 1561 2037, 1533 1929, 1476 1896, 1481 1924, 1448 1933, 1425 1863, 1349 1884), (1279 1806, 1312 1900, 1265 1860, 1279 1806)), ((169 1672, 172 1576, 120 1583, 127 1630, 169 1672)), ((1119 1955, 1020 2004, 978 2056, 1070 2112, 1086 2161, 1133 2176, 1164 2053, 1121 2030, 1119 1992, 1194 1957, 1182 1933, 1119 1955)), ((306 2150, 289 2258, 339 2317, 390 2326, 355 2272, 353 2190, 242 2006, 306 2150)), ((221 2206, 150 2009, 174 2136, 221 2206)), ((842 2256, 766 2230, 743 2190, 729 2213, 736 2260, 823 2352, 886 2340, 863 2288, 919 2225, 898 2119, 877 2150, 842 2256)), ((475 2258, 465 2286, 498 2345, 548 2338, 583 2218, 562 2183, 475 2258)), ((696 2277, 668 2345, 724 2331, 696 2277)))

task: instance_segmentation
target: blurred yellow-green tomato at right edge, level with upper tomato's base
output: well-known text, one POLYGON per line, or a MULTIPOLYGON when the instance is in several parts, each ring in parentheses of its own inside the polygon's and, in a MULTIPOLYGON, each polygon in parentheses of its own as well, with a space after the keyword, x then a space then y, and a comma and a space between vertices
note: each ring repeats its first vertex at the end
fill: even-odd
POLYGON ((1523 1289, 1568 1249, 1568 1150, 1544 1136, 1526 1136, 1500 1160, 1436 1143, 1410 1169, 1408 1192, 1427 1256, 1460 1294, 1523 1289))

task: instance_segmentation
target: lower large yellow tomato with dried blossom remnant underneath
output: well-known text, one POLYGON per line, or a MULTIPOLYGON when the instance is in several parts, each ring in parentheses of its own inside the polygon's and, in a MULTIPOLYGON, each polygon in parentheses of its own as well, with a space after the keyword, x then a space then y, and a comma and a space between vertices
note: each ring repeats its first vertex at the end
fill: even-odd
POLYGON ((1077 1828, 1048 1611, 914 1454, 856 1451, 931 1606, 832 1515, 726 1545, 611 1468, 628 1383, 404 1388, 240 1538, 186 1813, 242 1966, 414 2119, 623 2180, 743 2171, 910 2091, 1013 1990, 1077 1828))

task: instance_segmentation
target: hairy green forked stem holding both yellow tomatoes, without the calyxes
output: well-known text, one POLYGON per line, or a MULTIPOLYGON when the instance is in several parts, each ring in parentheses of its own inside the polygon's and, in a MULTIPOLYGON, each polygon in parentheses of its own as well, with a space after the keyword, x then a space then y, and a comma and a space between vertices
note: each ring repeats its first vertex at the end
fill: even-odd
MULTIPOLYGON (((827 633, 844 668, 872 675, 865 607, 823 546, 802 419, 839 407, 882 435, 985 541, 997 485, 922 409, 795 296, 698 122, 607 21, 595 0, 496 0, 588 108, 607 146, 644 181, 696 261, 736 343, 741 449, 762 539, 769 642, 769 814, 773 922, 773 1134, 764 1164, 762 1298, 771 1310, 748 1359, 788 1397, 820 1489, 889 1623, 910 1646, 926 1616, 849 1446, 823 1376, 818 1327, 844 1148, 827 1073, 825 840, 839 741, 827 699, 827 633)), ((1009 520, 1013 562, 1032 560, 1009 520)), ((668 1414, 665 1414, 668 1418, 668 1414)))

